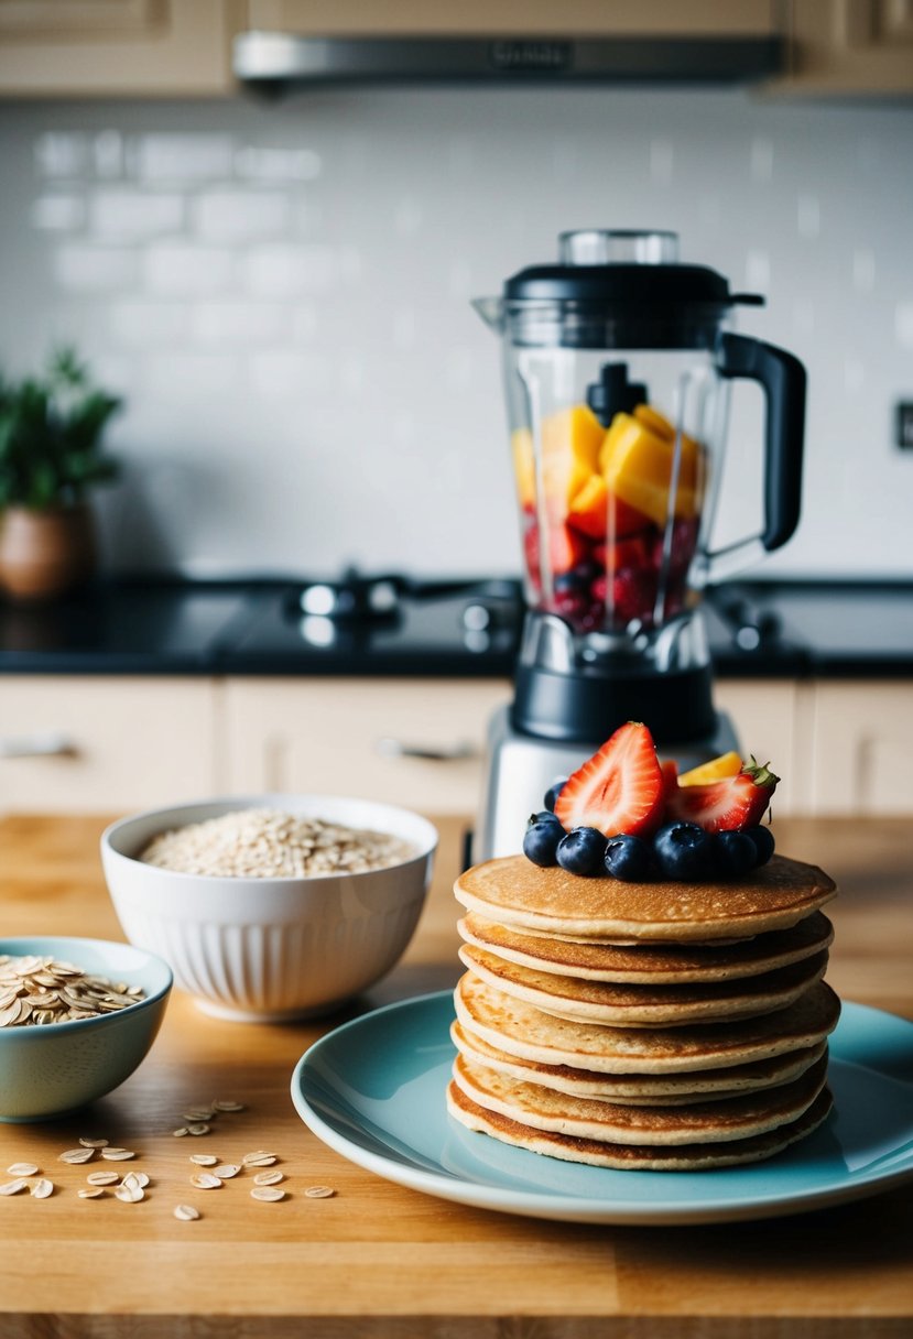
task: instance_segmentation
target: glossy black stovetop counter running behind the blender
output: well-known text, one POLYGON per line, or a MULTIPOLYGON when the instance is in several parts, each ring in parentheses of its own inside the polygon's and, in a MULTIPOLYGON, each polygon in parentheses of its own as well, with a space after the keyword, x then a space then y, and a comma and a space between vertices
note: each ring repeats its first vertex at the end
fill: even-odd
MULTIPOLYGON (((374 617, 303 609, 300 581, 99 581, 0 603, 0 672, 511 678, 514 580, 392 580, 374 617)), ((913 582, 738 581, 704 601, 720 678, 913 674, 913 582)))

